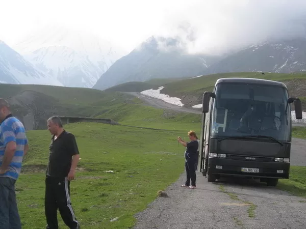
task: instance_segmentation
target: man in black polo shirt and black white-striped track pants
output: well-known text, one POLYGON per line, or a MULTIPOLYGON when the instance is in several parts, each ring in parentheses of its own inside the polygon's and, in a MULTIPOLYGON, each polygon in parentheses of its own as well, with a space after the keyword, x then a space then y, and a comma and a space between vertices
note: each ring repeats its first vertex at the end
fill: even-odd
POLYGON ((64 130, 59 117, 47 121, 53 135, 49 145, 49 161, 45 179, 46 228, 58 229, 57 209, 69 228, 80 228, 70 199, 70 181, 74 179, 80 153, 72 133, 64 130))

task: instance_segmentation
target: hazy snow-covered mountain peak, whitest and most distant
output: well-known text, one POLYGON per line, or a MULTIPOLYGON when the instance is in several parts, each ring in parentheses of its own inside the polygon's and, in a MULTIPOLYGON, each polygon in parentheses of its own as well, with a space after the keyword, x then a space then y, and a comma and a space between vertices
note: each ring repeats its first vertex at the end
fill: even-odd
POLYGON ((86 88, 124 54, 95 35, 59 26, 44 27, 14 48, 65 86, 86 88))

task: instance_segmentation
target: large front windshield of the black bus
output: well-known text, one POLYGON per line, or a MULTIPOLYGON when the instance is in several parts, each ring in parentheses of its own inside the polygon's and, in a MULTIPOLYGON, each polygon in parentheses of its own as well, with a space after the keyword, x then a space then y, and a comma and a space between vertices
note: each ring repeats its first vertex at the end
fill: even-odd
POLYGON ((290 140, 288 92, 277 85, 217 84, 212 107, 212 137, 264 135, 290 140), (287 107, 287 110, 286 110, 287 107))

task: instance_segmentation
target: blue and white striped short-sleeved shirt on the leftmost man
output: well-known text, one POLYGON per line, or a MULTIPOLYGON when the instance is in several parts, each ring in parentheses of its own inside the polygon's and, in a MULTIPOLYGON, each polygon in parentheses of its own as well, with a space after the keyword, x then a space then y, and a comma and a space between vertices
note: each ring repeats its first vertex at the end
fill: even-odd
POLYGON ((10 177, 17 180, 21 171, 24 147, 28 144, 28 139, 23 124, 12 116, 0 125, 0 166, 2 165, 6 145, 10 141, 16 142, 16 151, 9 165, 9 171, 0 175, 0 177, 10 177))

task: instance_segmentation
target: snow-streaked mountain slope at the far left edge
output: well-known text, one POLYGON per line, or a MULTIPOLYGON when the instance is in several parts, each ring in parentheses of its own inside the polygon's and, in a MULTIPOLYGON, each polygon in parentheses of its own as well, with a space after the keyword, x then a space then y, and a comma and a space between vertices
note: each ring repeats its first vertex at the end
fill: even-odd
POLYGON ((13 84, 63 84, 43 74, 3 41, 0 41, 0 82, 13 84))

